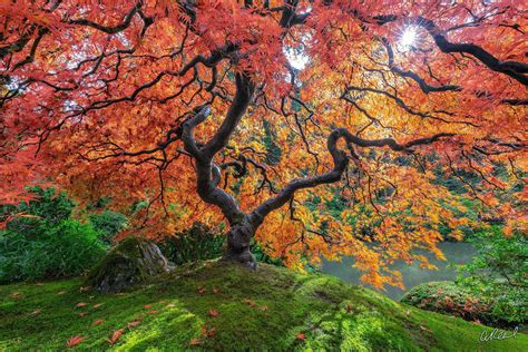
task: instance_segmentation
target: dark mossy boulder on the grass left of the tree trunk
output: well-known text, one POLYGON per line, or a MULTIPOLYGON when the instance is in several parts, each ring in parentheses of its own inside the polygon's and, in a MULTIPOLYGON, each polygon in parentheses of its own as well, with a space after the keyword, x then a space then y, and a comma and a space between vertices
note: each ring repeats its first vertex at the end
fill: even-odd
POLYGON ((101 293, 118 293, 170 268, 156 244, 130 237, 114 247, 90 272, 88 283, 101 293))

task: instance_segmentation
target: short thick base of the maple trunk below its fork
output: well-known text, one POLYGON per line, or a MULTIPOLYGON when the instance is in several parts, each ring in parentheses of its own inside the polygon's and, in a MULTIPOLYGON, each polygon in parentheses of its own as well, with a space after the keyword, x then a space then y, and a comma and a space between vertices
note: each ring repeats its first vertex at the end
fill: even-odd
POLYGON ((239 223, 232 225, 227 233, 227 250, 224 260, 243 264, 256 270, 256 260, 250 251, 250 242, 256 228, 245 216, 239 223))

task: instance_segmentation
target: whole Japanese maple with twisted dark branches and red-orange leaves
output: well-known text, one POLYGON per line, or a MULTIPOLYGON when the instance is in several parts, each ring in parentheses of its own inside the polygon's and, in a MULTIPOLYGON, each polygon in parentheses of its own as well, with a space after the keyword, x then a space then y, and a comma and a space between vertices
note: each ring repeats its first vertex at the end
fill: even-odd
POLYGON ((428 265, 413 248, 441 256, 440 224, 458 237, 470 222, 462 197, 526 228, 525 1, 13 0, 0 14, 2 203, 36 183, 144 201, 135 234, 226 222, 226 258, 254 267, 253 237, 291 266, 353 255, 378 286, 399 283, 394 260, 428 265), (467 172, 466 194, 438 182, 467 172))

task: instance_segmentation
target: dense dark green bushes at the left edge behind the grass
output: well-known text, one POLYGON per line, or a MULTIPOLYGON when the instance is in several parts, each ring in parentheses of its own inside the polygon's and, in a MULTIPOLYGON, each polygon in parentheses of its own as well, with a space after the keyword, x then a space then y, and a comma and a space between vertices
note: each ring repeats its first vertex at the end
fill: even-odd
POLYGON ((70 218, 66 194, 31 192, 35 201, 0 206, 2 216, 23 214, 0 232, 0 283, 78 275, 105 254, 97 232, 70 218))

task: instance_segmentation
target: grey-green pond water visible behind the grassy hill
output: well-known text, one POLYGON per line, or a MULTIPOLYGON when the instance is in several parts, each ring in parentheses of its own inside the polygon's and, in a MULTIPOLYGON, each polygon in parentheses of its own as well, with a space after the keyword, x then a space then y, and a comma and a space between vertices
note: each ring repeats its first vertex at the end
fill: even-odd
MULTIPOLYGON (((403 294, 410 289, 431 281, 446 281, 454 280, 457 277, 457 271, 454 267, 448 267, 450 263, 465 264, 469 262, 476 254, 475 247, 470 243, 465 242, 443 242, 438 245, 443 252, 447 261, 439 261, 432 253, 420 251, 420 254, 426 255, 431 264, 434 264, 438 270, 426 270, 420 268, 419 264, 412 265, 405 264, 402 261, 394 263, 391 267, 401 272, 403 277, 403 284, 405 290, 398 287, 387 286, 385 291, 381 293, 391 297, 392 300, 399 301, 403 294)), ((343 258, 342 262, 323 262, 322 272, 325 274, 338 276, 349 283, 360 284, 360 272, 353 267, 354 261, 352 257, 343 258)))

